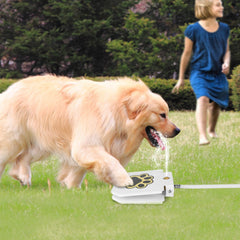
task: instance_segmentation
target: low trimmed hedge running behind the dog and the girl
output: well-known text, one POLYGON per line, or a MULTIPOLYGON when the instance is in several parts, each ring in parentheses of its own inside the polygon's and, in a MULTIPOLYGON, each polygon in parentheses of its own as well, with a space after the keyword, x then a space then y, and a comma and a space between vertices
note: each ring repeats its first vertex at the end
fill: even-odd
MULTIPOLYGON (((86 77, 88 78, 88 77, 86 77)), ((103 81, 106 79, 114 79, 113 77, 96 77, 90 78, 95 81, 103 81)), ((183 111, 183 110, 195 110, 196 99, 195 95, 190 86, 189 80, 185 80, 185 87, 178 94, 172 94, 172 88, 176 84, 177 80, 173 79, 150 79, 142 78, 142 80, 147 84, 147 86, 155 93, 160 94, 168 103, 169 109, 171 111, 183 111)), ((8 86, 14 83, 17 80, 0 80, 0 92, 3 92, 8 86)), ((229 80, 229 90, 230 90, 230 102, 229 107, 226 110, 234 110, 233 107, 233 98, 232 98, 232 89, 233 81, 229 80)), ((237 109, 235 109, 237 110, 237 109)))

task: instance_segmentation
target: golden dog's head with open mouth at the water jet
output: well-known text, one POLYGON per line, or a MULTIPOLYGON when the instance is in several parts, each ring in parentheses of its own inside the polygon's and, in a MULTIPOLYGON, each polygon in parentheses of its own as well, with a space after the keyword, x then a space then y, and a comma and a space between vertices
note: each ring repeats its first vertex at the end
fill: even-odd
POLYGON ((125 101, 125 107, 129 120, 138 128, 136 131, 140 131, 142 137, 146 138, 153 147, 164 148, 161 134, 165 138, 172 138, 180 132, 180 129, 168 118, 167 103, 146 86, 145 89, 142 87, 133 90, 125 101))

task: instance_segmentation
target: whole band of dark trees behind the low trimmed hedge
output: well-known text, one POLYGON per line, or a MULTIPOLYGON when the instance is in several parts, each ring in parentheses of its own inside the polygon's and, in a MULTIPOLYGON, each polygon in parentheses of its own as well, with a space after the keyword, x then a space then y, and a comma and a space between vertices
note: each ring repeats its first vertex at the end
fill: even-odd
MULTIPOLYGON (((145 11, 138 11, 138 2, 0 0, 0 77, 49 72, 176 78, 183 30, 196 21, 194 1, 145 1, 145 11)), ((240 3, 223 4, 235 67, 240 62, 240 3)))

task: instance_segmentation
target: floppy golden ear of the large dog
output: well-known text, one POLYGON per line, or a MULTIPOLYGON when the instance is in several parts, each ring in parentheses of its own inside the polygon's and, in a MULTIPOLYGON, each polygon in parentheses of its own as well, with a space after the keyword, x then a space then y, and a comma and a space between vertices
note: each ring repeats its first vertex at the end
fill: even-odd
POLYGON ((130 120, 135 119, 148 107, 146 95, 139 91, 128 94, 123 102, 130 120))

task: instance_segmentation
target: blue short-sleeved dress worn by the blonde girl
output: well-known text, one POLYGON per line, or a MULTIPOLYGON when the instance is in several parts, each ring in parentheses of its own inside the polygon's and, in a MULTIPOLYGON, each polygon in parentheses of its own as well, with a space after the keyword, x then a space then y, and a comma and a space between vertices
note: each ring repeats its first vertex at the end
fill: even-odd
POLYGON ((199 22, 185 30, 185 36, 193 41, 190 83, 196 98, 206 96, 223 108, 229 101, 228 81, 222 73, 229 32, 228 25, 221 22, 213 33, 206 31, 199 22))

